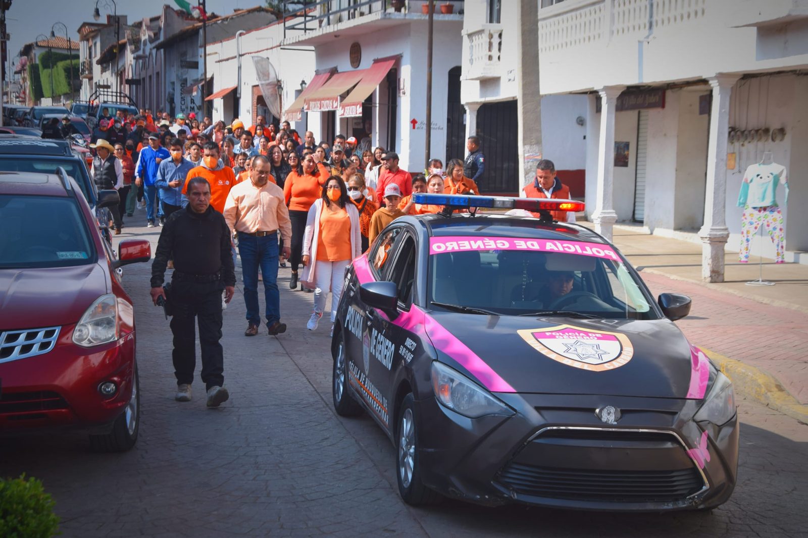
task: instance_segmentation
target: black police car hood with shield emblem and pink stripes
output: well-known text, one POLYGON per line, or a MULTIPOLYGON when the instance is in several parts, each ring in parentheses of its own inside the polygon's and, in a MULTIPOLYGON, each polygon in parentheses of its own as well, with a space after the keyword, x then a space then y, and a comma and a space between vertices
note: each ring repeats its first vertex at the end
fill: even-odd
POLYGON ((690 344, 667 319, 428 316, 436 348, 493 392, 684 398, 692 385, 690 344))

